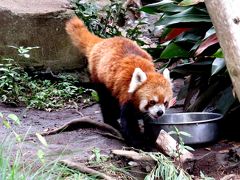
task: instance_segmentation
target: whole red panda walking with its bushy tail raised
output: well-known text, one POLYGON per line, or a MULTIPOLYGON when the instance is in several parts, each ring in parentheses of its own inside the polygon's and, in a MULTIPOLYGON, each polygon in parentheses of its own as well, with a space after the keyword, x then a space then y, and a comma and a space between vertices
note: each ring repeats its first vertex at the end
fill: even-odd
POLYGON ((66 23, 72 43, 88 59, 91 81, 96 84, 104 122, 120 128, 127 143, 140 140, 138 120, 157 119, 172 99, 169 71, 155 71, 152 57, 134 41, 124 37, 103 39, 73 17, 66 23))

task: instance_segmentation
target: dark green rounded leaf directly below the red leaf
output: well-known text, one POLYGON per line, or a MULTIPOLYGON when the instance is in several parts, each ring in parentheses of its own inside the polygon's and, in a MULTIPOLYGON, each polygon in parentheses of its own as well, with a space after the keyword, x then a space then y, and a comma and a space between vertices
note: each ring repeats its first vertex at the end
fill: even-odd
POLYGON ((182 46, 177 43, 170 43, 162 52, 160 58, 171 59, 171 58, 186 58, 189 57, 189 53, 182 46))

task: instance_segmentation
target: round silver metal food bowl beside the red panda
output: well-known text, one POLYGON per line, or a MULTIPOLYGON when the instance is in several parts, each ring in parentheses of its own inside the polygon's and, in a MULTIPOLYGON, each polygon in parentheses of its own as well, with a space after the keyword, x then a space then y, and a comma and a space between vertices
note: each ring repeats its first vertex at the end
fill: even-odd
MULTIPOLYGON (((181 136, 185 144, 206 144, 218 139, 219 120, 222 117, 221 114, 209 112, 165 114, 157 120, 145 120, 145 128, 147 134, 156 139, 161 129, 166 132, 175 131, 175 126, 179 131, 191 135, 191 137, 181 136)), ((174 135, 171 136, 177 138, 174 135)))

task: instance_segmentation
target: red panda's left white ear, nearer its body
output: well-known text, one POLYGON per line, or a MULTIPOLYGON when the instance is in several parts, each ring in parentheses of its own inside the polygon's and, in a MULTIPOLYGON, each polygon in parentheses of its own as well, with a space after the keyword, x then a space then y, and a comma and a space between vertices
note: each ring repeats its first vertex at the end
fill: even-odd
POLYGON ((144 81, 147 80, 147 75, 140 68, 136 68, 132 74, 132 79, 129 84, 129 93, 133 93, 144 81))

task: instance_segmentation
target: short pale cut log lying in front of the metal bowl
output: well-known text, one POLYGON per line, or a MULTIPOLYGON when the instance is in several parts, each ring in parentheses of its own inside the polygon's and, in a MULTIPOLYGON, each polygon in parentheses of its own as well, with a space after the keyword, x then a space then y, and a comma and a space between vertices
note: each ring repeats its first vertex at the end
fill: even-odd
MULTIPOLYGON (((176 158, 174 155, 177 152, 178 143, 175 139, 173 139, 166 131, 161 130, 158 138, 156 140, 157 147, 166 155, 176 158)), ((187 159, 193 159, 193 154, 188 150, 182 150, 179 157, 179 161, 181 163, 185 162, 187 159)))

